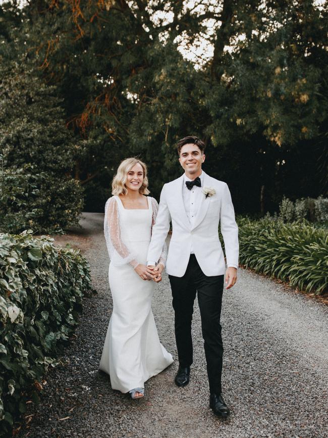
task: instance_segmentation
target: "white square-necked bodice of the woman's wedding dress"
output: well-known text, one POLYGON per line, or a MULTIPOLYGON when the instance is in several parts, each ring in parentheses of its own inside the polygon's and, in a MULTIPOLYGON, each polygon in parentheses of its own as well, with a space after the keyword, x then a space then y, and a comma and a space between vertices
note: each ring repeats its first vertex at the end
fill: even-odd
POLYGON ((150 199, 147 198, 148 209, 125 209, 122 201, 115 196, 120 211, 120 226, 124 230, 126 243, 130 242, 150 242, 152 206, 150 199))

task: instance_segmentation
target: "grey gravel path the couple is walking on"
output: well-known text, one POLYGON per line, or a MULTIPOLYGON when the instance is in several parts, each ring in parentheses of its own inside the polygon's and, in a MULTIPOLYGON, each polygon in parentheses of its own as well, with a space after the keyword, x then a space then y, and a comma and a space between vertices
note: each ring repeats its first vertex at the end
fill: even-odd
MULTIPOLYGON (((102 223, 102 214, 85 213, 82 230, 58 239, 82 247, 98 295, 84 299, 63 365, 46 376, 41 404, 29 404, 29 422, 18 436, 328 437, 328 308, 242 269, 236 286, 224 293, 222 312, 223 391, 232 411, 228 420, 215 417, 208 406, 196 306, 189 385, 174 384, 175 361, 146 382, 141 400, 113 391, 109 377, 98 371, 112 309, 102 223)), ((156 286, 153 312, 159 337, 176 358, 167 275, 156 286)))

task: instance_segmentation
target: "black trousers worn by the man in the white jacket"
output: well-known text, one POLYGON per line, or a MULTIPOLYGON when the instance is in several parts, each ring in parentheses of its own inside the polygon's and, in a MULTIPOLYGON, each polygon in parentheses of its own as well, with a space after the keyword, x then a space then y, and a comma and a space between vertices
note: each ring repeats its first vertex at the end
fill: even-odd
POLYGON ((220 317, 224 275, 207 277, 200 269, 196 256, 191 254, 185 275, 183 277, 169 275, 169 278, 175 311, 179 364, 187 367, 193 361, 191 321, 197 293, 209 391, 220 394, 223 358, 220 317))

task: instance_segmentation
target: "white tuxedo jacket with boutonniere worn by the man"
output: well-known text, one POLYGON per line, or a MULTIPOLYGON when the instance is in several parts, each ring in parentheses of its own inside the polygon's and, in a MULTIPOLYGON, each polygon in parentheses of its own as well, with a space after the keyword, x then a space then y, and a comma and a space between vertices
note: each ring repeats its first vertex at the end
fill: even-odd
POLYGON ((215 194, 206 199, 205 194, 202 194, 193 227, 190 225, 182 198, 184 176, 165 184, 160 194, 159 210, 152 228, 147 260, 159 259, 172 220, 172 238, 166 269, 168 274, 176 277, 182 277, 186 272, 191 245, 205 275, 225 274, 226 264, 218 238, 219 222, 225 242, 227 265, 238 266, 238 226, 228 185, 202 172, 204 179, 201 188, 214 188, 215 194))

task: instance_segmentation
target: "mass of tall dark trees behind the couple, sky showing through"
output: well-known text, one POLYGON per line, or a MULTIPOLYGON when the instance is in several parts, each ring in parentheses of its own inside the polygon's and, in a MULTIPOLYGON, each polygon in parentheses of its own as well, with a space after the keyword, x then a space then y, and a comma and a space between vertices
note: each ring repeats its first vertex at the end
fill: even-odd
POLYGON ((181 173, 174 146, 187 134, 205 140, 204 170, 228 182, 240 212, 325 193, 326 3, 15 5, 0 7, 0 58, 56 87, 87 208, 102 211, 99 185, 131 155, 149 164, 157 197, 181 173), (204 40, 212 54, 187 60, 204 40))

